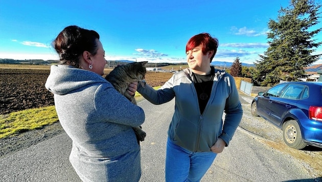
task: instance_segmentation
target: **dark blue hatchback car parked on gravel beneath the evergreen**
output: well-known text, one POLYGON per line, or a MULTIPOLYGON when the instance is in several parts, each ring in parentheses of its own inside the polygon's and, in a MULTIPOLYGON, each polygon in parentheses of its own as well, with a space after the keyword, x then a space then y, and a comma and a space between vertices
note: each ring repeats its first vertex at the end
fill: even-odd
POLYGON ((251 114, 282 129, 291 148, 322 148, 322 82, 275 85, 252 100, 251 114))

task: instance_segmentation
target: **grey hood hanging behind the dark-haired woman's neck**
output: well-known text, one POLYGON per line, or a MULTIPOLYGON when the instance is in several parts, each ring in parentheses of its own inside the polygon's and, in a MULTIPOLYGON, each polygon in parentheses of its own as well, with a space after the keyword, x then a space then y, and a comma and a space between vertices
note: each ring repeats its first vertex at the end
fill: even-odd
POLYGON ((94 72, 69 65, 52 65, 45 87, 53 94, 65 95, 88 84, 106 83, 94 72))

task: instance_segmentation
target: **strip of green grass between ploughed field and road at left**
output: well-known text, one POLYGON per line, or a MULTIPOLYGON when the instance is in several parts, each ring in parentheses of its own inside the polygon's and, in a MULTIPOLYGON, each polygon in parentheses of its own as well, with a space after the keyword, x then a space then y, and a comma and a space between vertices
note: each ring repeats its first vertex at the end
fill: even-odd
POLYGON ((40 129, 58 121, 55 106, 27 109, 0 115, 0 139, 40 129))

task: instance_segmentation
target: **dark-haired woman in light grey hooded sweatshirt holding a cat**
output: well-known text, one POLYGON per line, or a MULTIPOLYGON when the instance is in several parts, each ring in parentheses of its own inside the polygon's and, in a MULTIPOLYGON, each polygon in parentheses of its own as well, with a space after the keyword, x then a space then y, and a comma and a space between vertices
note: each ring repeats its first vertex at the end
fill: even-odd
POLYGON ((45 87, 54 94, 61 126, 73 141, 70 162, 83 181, 139 181, 140 146, 132 127, 145 120, 106 81, 104 49, 96 31, 64 28, 53 41, 61 64, 45 87))

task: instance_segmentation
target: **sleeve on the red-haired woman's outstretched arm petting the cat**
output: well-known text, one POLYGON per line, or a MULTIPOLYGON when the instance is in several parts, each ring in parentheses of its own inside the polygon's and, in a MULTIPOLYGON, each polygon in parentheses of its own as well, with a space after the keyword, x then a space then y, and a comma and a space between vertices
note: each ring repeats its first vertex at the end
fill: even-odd
POLYGON ((171 101, 175 97, 173 91, 173 83, 175 74, 158 90, 155 90, 145 81, 137 84, 137 92, 139 92, 145 99, 155 105, 163 104, 171 101))

